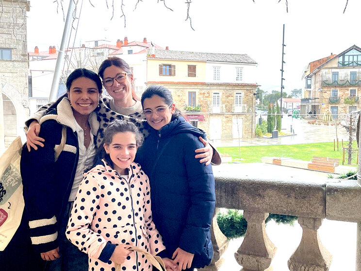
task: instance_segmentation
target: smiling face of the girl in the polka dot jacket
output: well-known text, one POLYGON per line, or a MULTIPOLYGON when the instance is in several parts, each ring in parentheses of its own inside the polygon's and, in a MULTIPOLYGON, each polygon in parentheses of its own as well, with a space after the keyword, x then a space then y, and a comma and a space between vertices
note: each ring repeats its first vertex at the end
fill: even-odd
POLYGON ((128 167, 134 161, 137 152, 137 142, 132 132, 119 132, 113 135, 112 142, 104 144, 104 149, 110 155, 114 169, 121 175, 127 174, 128 167))

